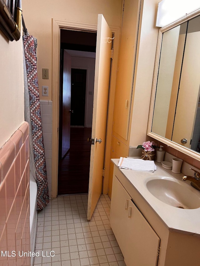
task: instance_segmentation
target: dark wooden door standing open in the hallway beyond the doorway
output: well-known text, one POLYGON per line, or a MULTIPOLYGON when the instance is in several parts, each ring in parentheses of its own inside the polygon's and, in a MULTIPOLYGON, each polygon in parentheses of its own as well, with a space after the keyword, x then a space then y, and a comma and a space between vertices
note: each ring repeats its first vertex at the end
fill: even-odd
POLYGON ((63 54, 63 90, 61 95, 62 152, 61 157, 70 147, 70 106, 71 106, 71 56, 64 50, 63 54))

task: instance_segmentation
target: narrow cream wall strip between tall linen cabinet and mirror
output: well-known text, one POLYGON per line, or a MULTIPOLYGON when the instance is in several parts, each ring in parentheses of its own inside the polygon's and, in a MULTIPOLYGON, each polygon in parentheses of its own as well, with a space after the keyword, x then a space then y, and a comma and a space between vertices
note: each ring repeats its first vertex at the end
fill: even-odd
POLYGON ((158 40, 156 14, 158 0, 144 0, 142 25, 139 32, 139 47, 133 82, 130 145, 137 147, 147 137, 149 106, 151 99, 154 63, 158 40))

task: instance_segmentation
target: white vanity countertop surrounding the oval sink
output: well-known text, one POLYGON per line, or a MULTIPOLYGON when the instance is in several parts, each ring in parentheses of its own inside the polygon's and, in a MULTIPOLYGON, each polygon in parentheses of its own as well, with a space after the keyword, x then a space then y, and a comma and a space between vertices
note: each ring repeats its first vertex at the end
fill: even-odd
MULTIPOLYGON (((118 167, 119 159, 112 159, 112 162, 118 167)), ((154 212, 160 217, 160 219, 170 231, 176 231, 200 237, 200 207, 197 209, 179 209, 158 200, 148 191, 145 185, 145 181, 149 177, 174 177, 182 181, 182 173, 174 174, 171 170, 164 169, 161 166, 161 163, 155 162, 155 164, 157 166, 157 170, 153 173, 127 170, 123 168, 118 169, 131 182, 134 188, 144 198, 144 200, 154 210, 154 212)), ((190 185, 190 181, 186 181, 185 185, 189 186, 188 189, 190 189, 193 193, 196 193, 200 198, 200 191, 197 191, 195 188, 193 188, 190 185)))

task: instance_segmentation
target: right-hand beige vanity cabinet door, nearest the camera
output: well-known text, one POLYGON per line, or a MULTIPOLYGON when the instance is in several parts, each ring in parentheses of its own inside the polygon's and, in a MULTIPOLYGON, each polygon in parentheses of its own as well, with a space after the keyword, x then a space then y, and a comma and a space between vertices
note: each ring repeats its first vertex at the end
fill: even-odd
POLYGON ((128 203, 127 266, 155 266, 160 239, 131 200, 128 203))

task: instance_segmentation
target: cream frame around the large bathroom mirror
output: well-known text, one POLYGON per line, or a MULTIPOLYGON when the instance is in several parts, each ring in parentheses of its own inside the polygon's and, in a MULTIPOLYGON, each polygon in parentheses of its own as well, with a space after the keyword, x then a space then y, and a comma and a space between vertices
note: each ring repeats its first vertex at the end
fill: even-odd
POLYGON ((158 33, 158 43, 157 43, 157 51, 156 51, 156 60, 155 60, 155 67, 154 67, 154 75, 153 75, 153 86, 152 86, 152 95, 151 95, 151 103, 150 103, 150 109, 149 109, 149 120, 148 120, 148 128, 147 128, 147 135, 157 139, 158 141, 165 143, 166 145, 183 152, 184 154, 187 154, 190 157, 193 157, 194 159, 200 161, 200 153, 193 151, 187 147, 184 147, 178 143, 175 143, 167 138, 164 138, 156 133, 151 132, 152 128, 152 122, 153 122, 153 110, 154 110, 154 103, 155 103, 155 96, 156 96, 156 87, 157 87, 157 79, 158 79, 158 68, 159 68, 159 60, 160 60, 160 54, 161 54, 161 45, 162 45, 162 38, 163 33, 165 31, 168 31, 176 26, 179 26, 180 24, 187 22, 188 20, 197 17, 200 15, 200 8, 186 14, 185 16, 181 17, 180 19, 168 24, 167 26, 164 26, 159 29, 158 33))

